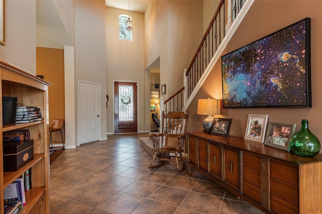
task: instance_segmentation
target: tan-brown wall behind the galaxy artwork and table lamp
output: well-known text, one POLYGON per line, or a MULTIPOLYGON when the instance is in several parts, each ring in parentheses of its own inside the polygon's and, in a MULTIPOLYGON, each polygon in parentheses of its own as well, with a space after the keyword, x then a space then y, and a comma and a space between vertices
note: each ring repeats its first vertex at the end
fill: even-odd
MULTIPOLYGON (((221 117, 233 118, 231 132, 234 136, 244 137, 248 114, 268 114, 269 121, 292 124, 296 123, 299 130, 302 119, 308 119, 309 128, 322 140, 322 67, 321 50, 322 42, 322 1, 255 1, 249 13, 241 22, 236 33, 229 42, 225 52, 229 53, 253 41, 265 37, 275 31, 287 27, 306 17, 311 18, 311 89, 312 108, 243 108, 221 109, 221 117), (265 10, 263 10, 265 9, 265 10)), ((205 84, 202 86, 193 104, 189 107, 192 113, 189 130, 202 130, 201 123, 204 117, 196 114, 198 98, 222 98, 221 92, 221 67, 218 62, 205 84), (199 124, 199 125, 198 125, 199 124)), ((190 117, 189 116, 189 117, 190 117)))

